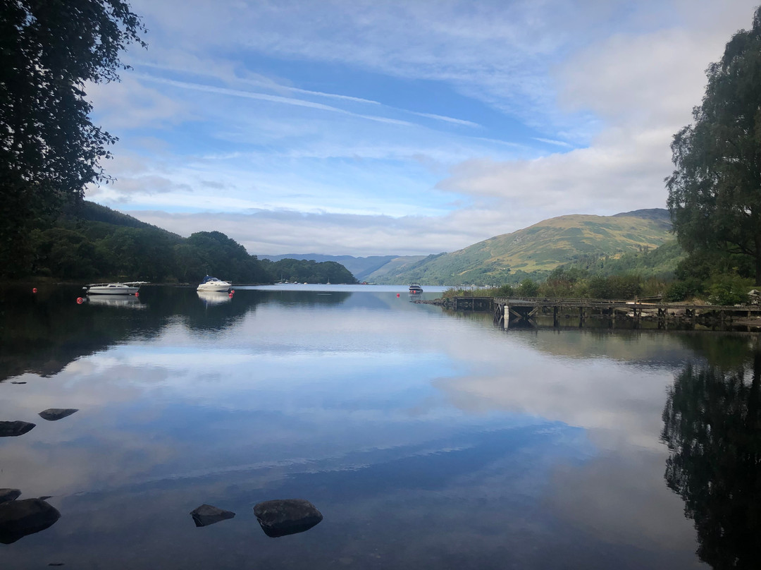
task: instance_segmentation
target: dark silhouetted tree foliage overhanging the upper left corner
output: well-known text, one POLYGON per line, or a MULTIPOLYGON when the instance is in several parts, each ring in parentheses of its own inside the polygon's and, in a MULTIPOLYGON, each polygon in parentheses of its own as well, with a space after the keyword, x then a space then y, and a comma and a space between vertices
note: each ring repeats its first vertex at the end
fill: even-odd
POLYGON ((122 0, 0 0, 0 275, 28 271, 40 219, 108 180, 116 137, 91 123, 84 89, 117 81, 145 31, 122 0))

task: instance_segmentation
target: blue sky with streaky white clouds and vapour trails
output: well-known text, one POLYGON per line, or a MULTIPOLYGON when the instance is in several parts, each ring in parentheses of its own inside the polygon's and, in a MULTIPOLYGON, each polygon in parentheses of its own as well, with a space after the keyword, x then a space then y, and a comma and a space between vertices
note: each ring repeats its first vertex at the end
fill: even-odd
POLYGON ((663 208, 759 0, 132 0, 89 200, 255 255, 428 255, 663 208))

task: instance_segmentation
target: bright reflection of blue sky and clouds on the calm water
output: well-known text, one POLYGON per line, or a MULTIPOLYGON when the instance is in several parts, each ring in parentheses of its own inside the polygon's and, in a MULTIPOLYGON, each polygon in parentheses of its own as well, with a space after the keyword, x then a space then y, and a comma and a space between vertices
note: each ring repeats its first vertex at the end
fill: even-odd
POLYGON ((298 552, 324 568, 369 564, 368 552, 393 567, 434 556, 482 568, 572 552, 594 567, 600 549, 631 555, 632 568, 693 564, 658 442, 666 387, 695 354, 679 335, 505 333, 437 308, 397 310, 392 295, 302 306, 298 319, 260 303, 221 331, 173 317, 53 377, 0 385, 19 418, 80 410, 5 444, 0 485, 56 495, 64 517, 49 540, 96 536, 103 563, 153 536, 183 548, 150 552, 152 564, 208 559, 208 543, 180 526, 208 502, 239 513, 215 525, 227 534, 208 529, 240 549, 223 567, 279 556, 298 567, 298 552), (326 520, 293 552, 247 543, 250 506, 289 495, 326 520))

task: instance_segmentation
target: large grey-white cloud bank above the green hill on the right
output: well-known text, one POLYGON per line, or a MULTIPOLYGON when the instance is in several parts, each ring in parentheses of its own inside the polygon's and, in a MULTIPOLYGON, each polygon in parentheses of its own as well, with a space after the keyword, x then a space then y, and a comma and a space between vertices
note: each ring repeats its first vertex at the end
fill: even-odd
POLYGON ((702 25, 615 34, 558 66, 561 103, 603 121, 590 146, 533 160, 470 159, 452 168, 451 178, 438 187, 495 197, 529 216, 539 212, 533 221, 664 207, 663 180, 673 168, 671 138, 691 120, 705 87, 705 67, 721 56, 731 36, 727 18, 721 29, 705 33, 705 20, 723 14, 724 7, 704 8, 702 25))

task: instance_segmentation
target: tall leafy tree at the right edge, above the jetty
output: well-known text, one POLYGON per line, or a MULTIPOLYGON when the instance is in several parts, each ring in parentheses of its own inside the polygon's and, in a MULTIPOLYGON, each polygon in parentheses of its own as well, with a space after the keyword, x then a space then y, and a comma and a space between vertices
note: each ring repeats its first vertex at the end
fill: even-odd
POLYGON ((673 227, 689 254, 749 256, 761 283, 761 7, 706 75, 694 124, 671 144, 673 227))

